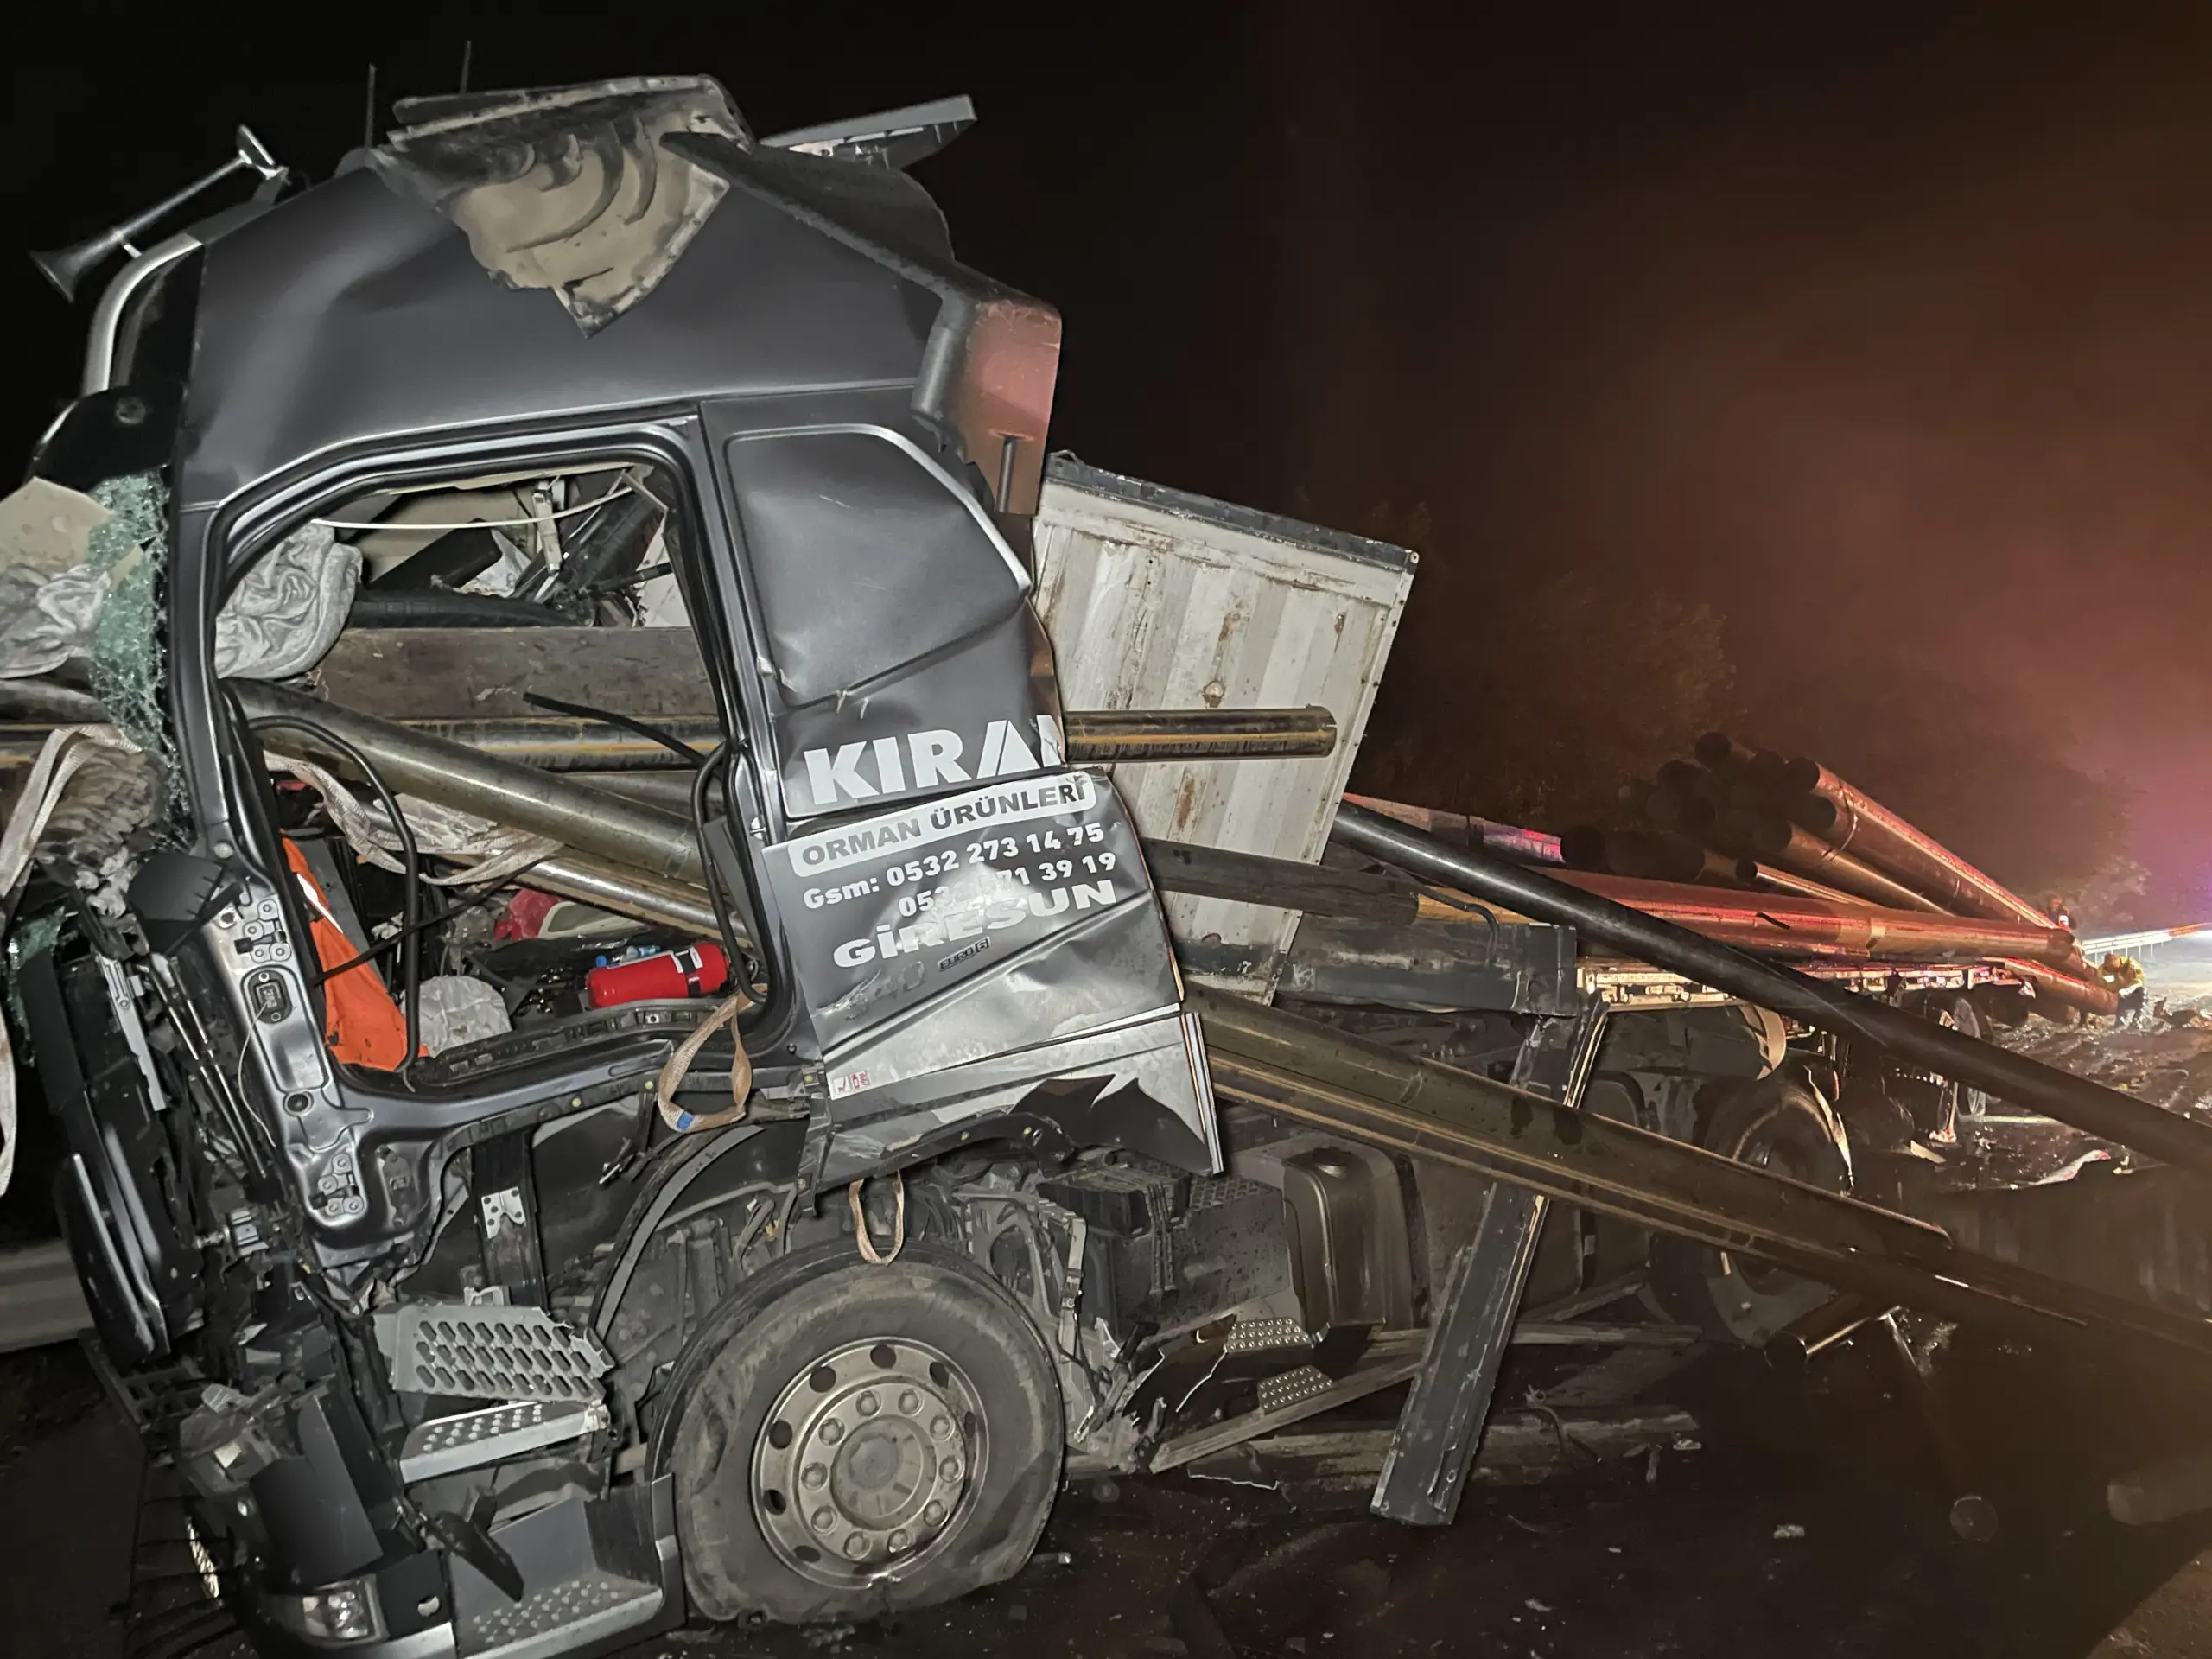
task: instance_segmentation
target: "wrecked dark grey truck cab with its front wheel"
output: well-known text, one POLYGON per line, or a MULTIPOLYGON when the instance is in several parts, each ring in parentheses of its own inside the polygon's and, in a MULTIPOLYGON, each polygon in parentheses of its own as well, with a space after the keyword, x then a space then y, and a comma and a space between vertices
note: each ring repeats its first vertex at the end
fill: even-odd
MULTIPOLYGON (((1141 1436, 1068 1192, 1221 1172, 1031 606, 1057 316, 951 259, 896 166, 929 122, 779 148, 710 82, 403 115, 126 270, 33 467, 157 526, 137 754, 100 752, 155 783, 11 945, 106 1360, 268 1650, 1004 1577, 1062 1458, 1141 1436), (703 675, 675 790, 409 703, 431 644, 531 628, 703 675), (540 883, 580 931, 509 927, 540 883), (597 998, 633 960, 697 980, 597 998), (471 978, 489 1031, 427 1042, 471 978)), ((533 719, 604 684, 542 668, 533 719)))

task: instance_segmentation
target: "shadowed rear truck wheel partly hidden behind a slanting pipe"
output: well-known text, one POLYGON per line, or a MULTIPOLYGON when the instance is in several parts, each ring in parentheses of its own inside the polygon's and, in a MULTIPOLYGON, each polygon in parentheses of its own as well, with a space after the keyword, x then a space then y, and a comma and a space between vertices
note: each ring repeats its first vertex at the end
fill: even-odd
MULTIPOLYGON (((1829 1192, 1851 1190, 1843 1121, 1803 1079, 1772 1073, 1754 1084, 1714 1084, 1699 1102, 1699 1144, 1829 1192)), ((1652 1237, 1650 1292, 1668 1318, 1699 1325, 1743 1347, 1765 1347, 1774 1332, 1836 1292, 1732 1250, 1652 1237)))

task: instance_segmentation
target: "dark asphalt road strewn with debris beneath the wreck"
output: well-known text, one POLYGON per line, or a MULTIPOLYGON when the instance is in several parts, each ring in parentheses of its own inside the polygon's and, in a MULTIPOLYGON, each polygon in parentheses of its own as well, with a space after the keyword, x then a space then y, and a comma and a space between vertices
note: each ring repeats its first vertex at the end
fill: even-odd
MULTIPOLYGON (((2212 1652, 2212 1555, 2192 1564, 2212 1522, 2126 1528, 2104 1509, 2112 1473, 2212 1444, 2205 1391, 1958 1340, 1938 1376, 1966 1480, 2000 1515, 1993 1542, 1969 1544, 1880 1360, 1854 1343, 1792 1383, 1708 1356, 1661 1387, 1697 1411, 1694 1451, 1473 1491, 1447 1531, 1245 1486, 1113 1482, 1066 1493, 1040 1564, 951 1608, 898 1626, 692 1628, 637 1655, 2212 1652)), ((139 1464, 71 1349, 0 1360, 0 1646, 111 1659, 139 1464)))

